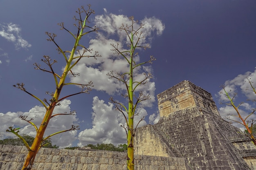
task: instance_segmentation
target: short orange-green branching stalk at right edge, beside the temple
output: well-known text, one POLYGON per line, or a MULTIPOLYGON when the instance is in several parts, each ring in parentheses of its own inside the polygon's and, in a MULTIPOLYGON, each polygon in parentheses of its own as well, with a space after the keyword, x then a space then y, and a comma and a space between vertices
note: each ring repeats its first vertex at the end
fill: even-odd
MULTIPOLYGON (((247 87, 246 90, 252 91, 253 93, 256 94, 256 90, 255 90, 256 87, 254 87, 254 86, 252 85, 253 82, 251 81, 251 79, 250 79, 249 77, 247 77, 247 82, 249 83, 249 86, 247 87)), ((241 113, 240 113, 240 111, 239 111, 238 108, 239 108, 242 104, 244 104, 244 102, 241 102, 241 103, 239 103, 238 105, 236 105, 235 102, 234 102, 234 97, 236 96, 236 93, 235 93, 234 95, 230 95, 229 93, 231 92, 231 90, 226 91, 224 85, 222 85, 221 87, 223 88, 223 91, 220 92, 220 93, 223 94, 223 95, 225 95, 225 96, 227 97, 227 99, 229 99, 229 101, 230 101, 229 103, 225 103, 225 104, 227 104, 227 105, 229 105, 229 106, 232 106, 232 107, 236 110, 236 113, 237 113, 237 115, 231 115, 231 114, 229 114, 229 116, 227 116, 227 119, 229 119, 229 120, 231 120, 231 121, 235 121, 235 122, 237 122, 237 123, 239 123, 239 124, 242 124, 242 125, 245 127, 245 130, 246 130, 246 131, 245 131, 245 132, 246 132, 245 135, 247 135, 247 137, 249 137, 249 138, 252 140, 252 142, 254 143, 254 145, 256 145, 256 139, 255 139, 254 134, 253 134, 253 133, 254 133, 253 130, 255 130, 255 124, 254 124, 254 123, 255 123, 256 120, 254 120, 254 119, 248 120, 250 116, 252 116, 253 114, 255 114, 256 108, 253 108, 253 109, 252 109, 252 112, 248 113, 248 115, 246 115, 246 117, 243 117, 243 116, 241 115, 241 113), (238 117, 238 118, 240 119, 240 121, 237 121, 237 120, 235 120, 235 119, 232 119, 230 116, 238 117)), ((253 101, 255 102, 255 99, 254 99, 253 101)))

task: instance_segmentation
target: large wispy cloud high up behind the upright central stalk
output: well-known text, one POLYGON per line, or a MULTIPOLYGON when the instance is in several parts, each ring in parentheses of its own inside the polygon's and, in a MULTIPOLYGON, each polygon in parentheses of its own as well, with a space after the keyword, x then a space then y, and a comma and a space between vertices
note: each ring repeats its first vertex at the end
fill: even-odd
MULTIPOLYGON (((164 30, 164 24, 157 18, 145 18, 141 22, 145 22, 145 29, 141 29, 145 37, 152 38, 153 33, 157 32, 157 35, 161 35, 164 30), (157 24, 157 26, 155 25, 157 24)), ((71 82, 84 84, 92 81, 94 83, 94 89, 98 91, 105 91, 109 95, 115 95, 123 93, 126 89, 124 84, 115 79, 109 79, 106 76, 110 71, 124 73, 128 71, 129 65, 126 60, 117 55, 113 55, 113 51, 110 51, 113 47, 110 44, 117 44, 119 42, 119 50, 124 51, 126 48, 126 42, 128 40, 125 31, 120 31, 119 27, 122 23, 130 24, 130 19, 124 15, 108 14, 97 15, 94 20, 97 27, 102 32, 99 32, 96 39, 90 40, 90 46, 88 49, 98 51, 102 57, 98 57, 97 60, 94 58, 83 58, 79 63, 72 69, 73 72, 81 73, 80 76, 70 77, 71 82), (105 35, 107 34, 107 35, 105 35), (118 40, 113 40, 111 37, 117 37, 118 40), (82 74, 86 73, 86 74, 82 74)), ((139 24, 134 24, 135 28, 139 28, 139 24)), ((149 39, 141 39, 141 44, 150 43, 149 39)), ((127 49, 126 49, 127 50, 127 49)), ((76 54, 78 55, 78 53, 76 54)), ((90 55, 87 53, 87 55, 90 55)), ((135 58, 138 63, 140 60, 139 55, 135 58)), ((145 61, 149 60, 148 58, 145 61)), ((142 61, 144 62, 144 61, 142 61)), ((135 81, 144 79, 144 74, 148 71, 153 71, 150 66, 140 66, 134 71, 135 81)), ((148 82, 146 86, 140 86, 137 90, 143 91, 144 95, 150 95, 151 100, 141 102, 144 106, 151 107, 152 103, 155 102, 155 83, 148 82)))

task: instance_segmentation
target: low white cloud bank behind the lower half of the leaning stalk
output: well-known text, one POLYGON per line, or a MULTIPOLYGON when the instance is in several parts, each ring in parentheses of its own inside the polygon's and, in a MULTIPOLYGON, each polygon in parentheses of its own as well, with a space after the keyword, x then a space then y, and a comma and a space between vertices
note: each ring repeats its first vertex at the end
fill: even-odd
MULTIPOLYGON (((54 109, 54 114, 56 113, 70 113, 70 100, 64 99, 60 102, 60 106, 56 106, 54 109)), ((27 134, 30 136, 35 136, 36 131, 34 127, 31 124, 28 124, 26 121, 19 118, 20 115, 27 116, 27 119, 33 119, 33 123, 36 124, 37 127, 40 126, 41 121, 45 114, 45 108, 42 106, 35 106, 34 108, 31 108, 28 112, 22 113, 22 112, 7 112, 7 113, 0 113, 0 140, 5 139, 6 137, 15 137, 10 132, 5 132, 8 127, 14 126, 14 127, 20 127, 20 134, 27 134)), ((71 125, 76 125, 76 122, 78 119, 76 118, 76 115, 59 115, 56 117, 53 117, 48 126, 47 130, 45 131, 45 137, 48 135, 51 135, 54 132, 58 132, 61 130, 70 129, 71 125)), ((72 142, 76 140, 77 131, 70 131, 70 132, 64 132, 58 135, 54 135, 51 137, 52 143, 56 144, 57 146, 60 146, 60 148, 70 147, 72 146, 72 142)))

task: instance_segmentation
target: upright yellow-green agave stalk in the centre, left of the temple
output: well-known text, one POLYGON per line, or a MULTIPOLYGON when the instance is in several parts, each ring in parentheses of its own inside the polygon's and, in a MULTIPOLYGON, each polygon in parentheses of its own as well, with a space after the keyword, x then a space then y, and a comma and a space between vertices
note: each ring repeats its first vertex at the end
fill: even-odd
MULTIPOLYGON (((127 51, 120 51, 118 48, 119 43, 111 44, 111 46, 114 48, 112 49, 112 51, 114 51, 115 54, 124 57, 124 59, 127 61, 127 63, 129 64, 129 70, 124 71, 123 73, 113 73, 113 71, 111 71, 107 75, 110 76, 110 78, 115 78, 118 81, 124 83, 124 86, 126 87, 126 94, 123 96, 128 98, 127 105, 114 100, 112 97, 110 98, 110 100, 116 104, 116 109, 124 115, 124 118, 126 120, 127 126, 123 127, 125 128, 127 135, 127 169, 134 170, 133 139, 137 127, 137 125, 134 126, 134 116, 136 116, 135 110, 140 102, 150 99, 148 95, 144 95, 141 91, 136 90, 139 85, 147 83, 147 80, 151 78, 151 74, 145 73, 145 77, 143 79, 135 80, 133 77, 133 73, 135 68, 141 66, 142 64, 152 63, 155 58, 153 56, 150 56, 150 60, 146 62, 136 63, 135 57, 138 55, 138 53, 135 51, 140 48, 146 49, 148 48, 148 46, 140 46, 139 43, 139 41, 144 38, 141 32, 141 29, 143 29, 144 25, 140 24, 139 28, 135 28, 134 24, 137 23, 137 21, 135 21, 133 17, 130 17, 130 20, 130 25, 122 24, 120 27, 120 30, 125 31, 128 39, 130 40, 130 49, 127 51)), ((143 119, 141 119, 141 121, 142 120, 143 119)))

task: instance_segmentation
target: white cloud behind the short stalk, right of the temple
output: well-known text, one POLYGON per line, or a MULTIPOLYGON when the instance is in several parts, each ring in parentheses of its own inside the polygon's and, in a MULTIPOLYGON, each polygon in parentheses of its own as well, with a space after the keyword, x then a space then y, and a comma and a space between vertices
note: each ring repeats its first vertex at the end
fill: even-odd
MULTIPOLYGON (((243 119, 245 119, 252 112, 252 109, 255 108, 254 102, 247 101, 247 99, 256 99, 256 94, 252 91, 252 87, 250 86, 247 78, 252 82, 252 86, 256 87, 256 83, 254 83, 256 82, 256 70, 254 70, 254 72, 248 71, 244 74, 237 75, 234 79, 227 80, 224 84, 225 90, 229 92, 231 98, 236 94, 233 99, 236 106, 238 106, 240 102, 244 102, 239 107, 239 113, 243 119)), ((218 97, 220 102, 228 104, 230 102, 229 99, 221 93, 223 93, 223 89, 219 91, 219 94, 216 95, 216 97, 218 97)), ((238 117, 230 116, 237 115, 236 110, 234 110, 234 108, 230 105, 221 107, 219 109, 219 113, 222 117, 229 117, 230 119, 241 122, 238 117)), ((251 119, 256 119, 256 115, 251 115, 247 120, 250 121, 251 119)), ((242 124, 235 121, 232 121, 234 126, 240 128, 241 130, 245 129, 242 124)))

